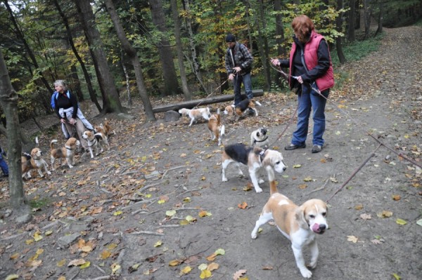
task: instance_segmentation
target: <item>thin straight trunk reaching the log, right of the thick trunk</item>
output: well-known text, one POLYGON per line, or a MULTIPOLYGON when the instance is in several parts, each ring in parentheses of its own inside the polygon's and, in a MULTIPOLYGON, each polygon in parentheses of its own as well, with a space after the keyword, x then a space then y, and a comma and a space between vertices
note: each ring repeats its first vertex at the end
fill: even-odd
POLYGON ((177 8, 177 0, 170 0, 172 4, 172 13, 174 21, 174 37, 176 39, 176 48, 177 48, 177 60, 179 60, 179 72, 181 79, 181 89, 184 93, 185 100, 191 100, 191 92, 188 88, 188 81, 186 79, 186 72, 184 67, 184 55, 183 49, 181 48, 181 39, 180 39, 180 20, 179 20, 179 10, 177 8))

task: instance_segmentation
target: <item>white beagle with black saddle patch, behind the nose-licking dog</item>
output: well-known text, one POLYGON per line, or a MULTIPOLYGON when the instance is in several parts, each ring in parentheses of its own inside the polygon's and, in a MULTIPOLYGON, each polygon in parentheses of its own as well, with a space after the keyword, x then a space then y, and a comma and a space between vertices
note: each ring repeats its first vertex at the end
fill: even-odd
POLYGON ((246 147, 243 144, 234 144, 224 147, 222 155, 222 180, 227 182, 226 168, 231 162, 238 166, 239 175, 243 176, 240 165, 248 166, 250 180, 252 181, 255 192, 262 192, 258 184, 262 184, 264 180, 258 181, 257 172, 262 166, 268 174, 269 185, 276 185, 274 171, 282 173, 286 170, 286 165, 283 163, 283 156, 281 152, 272 149, 261 149, 260 147, 246 147))

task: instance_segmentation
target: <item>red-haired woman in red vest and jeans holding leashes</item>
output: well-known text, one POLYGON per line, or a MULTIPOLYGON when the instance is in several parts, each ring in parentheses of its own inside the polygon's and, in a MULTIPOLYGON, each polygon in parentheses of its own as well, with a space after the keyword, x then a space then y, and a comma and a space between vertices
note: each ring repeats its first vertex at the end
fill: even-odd
POLYGON ((315 32, 314 23, 306 15, 293 19, 293 46, 288 60, 271 60, 280 67, 289 67, 290 90, 297 88, 298 93, 298 126, 293 133, 290 145, 284 149, 302 149, 308 133, 309 116, 314 111, 314 131, 312 152, 321 152, 324 145, 325 105, 330 88, 334 86, 333 65, 330 51, 324 36, 315 32), (323 96, 319 95, 318 89, 323 96))

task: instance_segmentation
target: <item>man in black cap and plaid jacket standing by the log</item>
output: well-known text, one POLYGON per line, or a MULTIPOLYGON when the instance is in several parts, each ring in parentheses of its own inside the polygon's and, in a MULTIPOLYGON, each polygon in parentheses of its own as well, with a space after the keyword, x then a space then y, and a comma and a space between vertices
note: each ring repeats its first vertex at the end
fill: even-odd
POLYGON ((227 74, 229 74, 229 80, 234 81, 234 105, 236 106, 242 101, 242 82, 248 99, 253 98, 252 81, 250 80, 253 58, 245 45, 236 42, 233 34, 226 36, 226 43, 229 48, 226 51, 225 66, 227 74))

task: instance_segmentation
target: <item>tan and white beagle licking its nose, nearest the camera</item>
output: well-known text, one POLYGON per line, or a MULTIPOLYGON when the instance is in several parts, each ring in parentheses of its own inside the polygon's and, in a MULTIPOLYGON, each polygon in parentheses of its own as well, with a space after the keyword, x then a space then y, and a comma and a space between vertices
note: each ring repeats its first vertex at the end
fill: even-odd
POLYGON ((316 267, 319 250, 316 244, 316 234, 323 234, 328 229, 326 215, 328 208, 320 199, 310 199, 301 206, 297 206, 283 194, 271 186, 271 196, 262 209, 260 218, 255 223, 250 236, 257 238, 258 229, 269 220, 274 220, 279 231, 292 242, 296 265, 304 278, 310 278, 312 272, 305 266, 303 251, 311 251, 311 268, 316 267))

